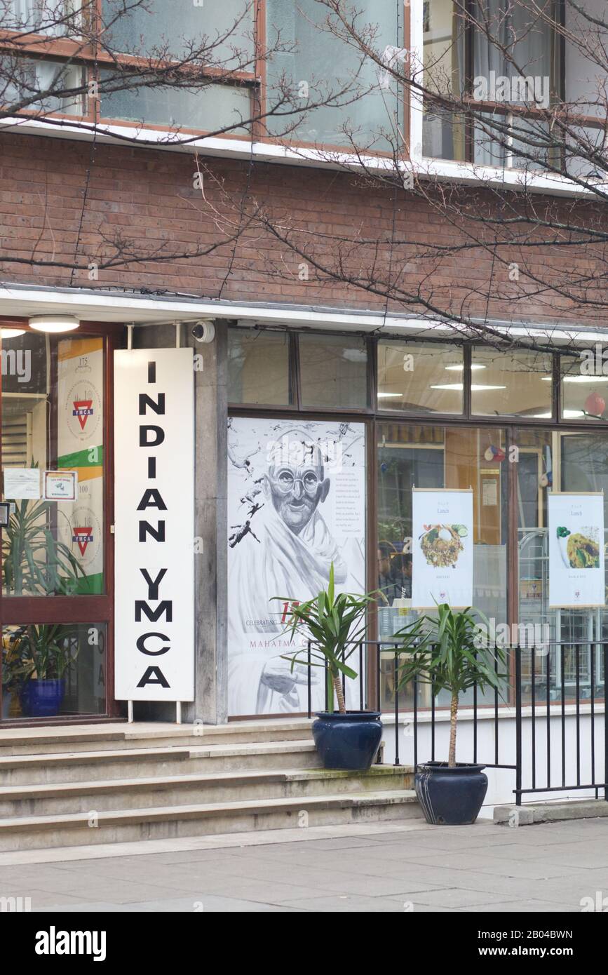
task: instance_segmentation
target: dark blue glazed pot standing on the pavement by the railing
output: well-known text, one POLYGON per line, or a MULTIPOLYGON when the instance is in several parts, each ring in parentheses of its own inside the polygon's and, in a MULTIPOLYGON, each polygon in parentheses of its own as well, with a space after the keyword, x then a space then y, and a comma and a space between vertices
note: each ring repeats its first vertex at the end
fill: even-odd
POLYGON ((416 796, 427 823, 433 826, 465 826, 475 823, 487 792, 485 765, 445 761, 419 765, 414 777, 416 796))

